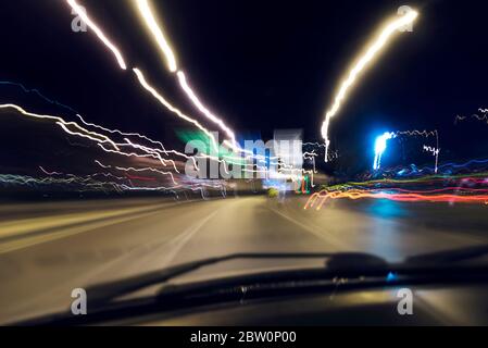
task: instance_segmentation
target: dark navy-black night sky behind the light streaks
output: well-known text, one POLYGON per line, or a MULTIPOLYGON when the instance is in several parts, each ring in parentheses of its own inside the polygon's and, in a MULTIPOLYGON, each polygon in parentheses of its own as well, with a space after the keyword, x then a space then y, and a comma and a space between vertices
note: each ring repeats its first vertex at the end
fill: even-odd
MULTIPOLYGON (((79 2, 129 66, 142 69, 173 104, 197 114, 130 2, 79 2)), ((456 114, 488 108, 486 1, 153 2, 179 66, 212 111, 238 132, 267 138, 275 128, 303 128, 306 140, 320 138, 324 111, 363 44, 400 5, 412 5, 421 12, 414 32, 400 35, 354 88, 333 121, 333 144, 346 163, 366 165, 377 134, 437 128, 445 160, 486 153, 487 124, 453 124, 456 114)), ((64 1, 2 1, 0 8, 0 80, 38 88, 91 122, 177 146, 173 129, 187 125, 121 71, 92 33, 71 30, 64 1)), ((50 111, 15 88, 0 90, 2 103, 50 111)))

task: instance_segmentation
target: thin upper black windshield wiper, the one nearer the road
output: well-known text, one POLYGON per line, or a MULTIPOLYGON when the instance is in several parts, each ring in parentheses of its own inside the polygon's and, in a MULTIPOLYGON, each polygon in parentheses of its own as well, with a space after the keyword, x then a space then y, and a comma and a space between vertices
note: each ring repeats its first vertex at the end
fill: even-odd
MULTIPOLYGON (((105 284, 95 285, 87 288, 90 302, 96 306, 109 302, 120 296, 128 295, 134 291, 140 290, 148 286, 164 284, 165 282, 196 271, 200 268, 229 261, 234 259, 330 259, 334 262, 329 262, 327 265, 333 269, 349 268, 349 260, 351 258, 355 261, 356 266, 384 266, 387 263, 377 257, 360 253, 330 253, 330 252, 304 252, 304 253, 233 253, 223 257, 215 257, 203 259, 199 261, 188 262, 175 266, 171 266, 161 271, 153 271, 145 273, 142 275, 136 275, 133 277, 124 278, 121 281, 110 282, 105 284), (360 262, 358 262, 360 261, 360 262)), ((325 265, 325 264, 324 264, 325 265)), ((325 268, 324 268, 325 269, 325 268)))

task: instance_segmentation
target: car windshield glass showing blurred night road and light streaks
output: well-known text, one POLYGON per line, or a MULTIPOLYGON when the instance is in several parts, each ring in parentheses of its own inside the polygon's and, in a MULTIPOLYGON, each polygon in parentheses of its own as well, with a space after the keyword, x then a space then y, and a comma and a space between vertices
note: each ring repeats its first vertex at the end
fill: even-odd
POLYGON ((2 1, 0 323, 487 245, 486 12, 416 3, 2 1))

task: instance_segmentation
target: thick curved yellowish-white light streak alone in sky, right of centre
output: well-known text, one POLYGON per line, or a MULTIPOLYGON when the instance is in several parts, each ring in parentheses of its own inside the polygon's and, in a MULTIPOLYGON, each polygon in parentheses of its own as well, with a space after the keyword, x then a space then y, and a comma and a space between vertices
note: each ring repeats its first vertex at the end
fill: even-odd
POLYGON ((373 59, 379 53, 379 51, 385 47, 386 44, 393 37, 395 33, 411 23, 413 23, 418 13, 416 11, 409 11, 403 16, 391 21, 386 25, 383 29, 381 34, 373 41, 373 44, 368 47, 365 54, 360 58, 360 60, 354 64, 351 71, 348 74, 348 77, 341 83, 340 88, 334 98, 333 105, 325 114, 325 121, 322 125, 322 137, 325 140, 325 161, 327 162, 328 147, 330 145, 330 140, 328 138, 328 127, 330 123, 330 119, 334 117, 340 110, 342 102, 346 100, 348 96, 348 91, 354 85, 360 74, 364 71, 364 69, 373 61, 373 59))

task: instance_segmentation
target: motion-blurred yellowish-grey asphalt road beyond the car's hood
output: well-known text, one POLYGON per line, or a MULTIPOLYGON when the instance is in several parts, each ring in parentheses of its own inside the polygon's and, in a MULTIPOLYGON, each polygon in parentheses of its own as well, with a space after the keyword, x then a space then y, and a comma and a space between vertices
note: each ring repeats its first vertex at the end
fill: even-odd
MULTIPOLYGON (((68 310, 73 288, 235 252, 365 251, 389 261, 488 244, 488 206, 262 196, 0 206, 0 323, 68 310)), ((174 283, 323 260, 236 260, 174 283)), ((89 308, 89 299, 88 299, 89 308)))

